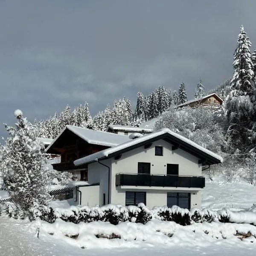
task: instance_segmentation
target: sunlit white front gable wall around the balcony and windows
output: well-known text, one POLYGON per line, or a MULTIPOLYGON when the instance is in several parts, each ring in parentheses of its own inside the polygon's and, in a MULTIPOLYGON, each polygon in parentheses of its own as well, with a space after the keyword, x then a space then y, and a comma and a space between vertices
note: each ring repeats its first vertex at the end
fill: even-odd
POLYGON ((172 145, 164 140, 158 140, 148 149, 144 146, 135 148, 122 154, 119 160, 112 159, 111 168, 111 204, 125 205, 125 191, 146 192, 146 204, 149 208, 167 204, 167 192, 189 192, 191 193, 191 207, 201 207, 201 191, 189 188, 166 188, 166 187, 140 187, 115 186, 117 173, 138 173, 138 162, 151 163, 150 173, 155 175, 166 175, 167 163, 179 165, 179 175, 201 176, 202 166, 198 164, 198 158, 177 149, 172 151, 172 145), (163 146, 163 156, 155 156, 155 146, 163 146), (194 195, 195 194, 195 195, 194 195))

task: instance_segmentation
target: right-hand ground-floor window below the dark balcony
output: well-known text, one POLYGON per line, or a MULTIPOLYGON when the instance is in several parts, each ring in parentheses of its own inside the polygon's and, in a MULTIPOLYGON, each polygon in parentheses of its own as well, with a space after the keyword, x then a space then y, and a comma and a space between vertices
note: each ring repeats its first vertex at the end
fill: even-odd
POLYGON ((190 193, 167 192, 167 207, 174 205, 180 208, 190 209, 190 193))

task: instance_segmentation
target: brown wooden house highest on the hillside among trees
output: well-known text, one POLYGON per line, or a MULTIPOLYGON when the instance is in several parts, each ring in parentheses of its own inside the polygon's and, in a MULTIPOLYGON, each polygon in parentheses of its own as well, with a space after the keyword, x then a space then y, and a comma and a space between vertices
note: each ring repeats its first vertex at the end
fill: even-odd
POLYGON ((223 100, 216 93, 212 93, 204 97, 201 97, 198 99, 192 99, 183 104, 177 105, 177 108, 186 107, 186 106, 193 107, 193 108, 199 107, 199 106, 220 108, 222 103, 223 103, 223 100))

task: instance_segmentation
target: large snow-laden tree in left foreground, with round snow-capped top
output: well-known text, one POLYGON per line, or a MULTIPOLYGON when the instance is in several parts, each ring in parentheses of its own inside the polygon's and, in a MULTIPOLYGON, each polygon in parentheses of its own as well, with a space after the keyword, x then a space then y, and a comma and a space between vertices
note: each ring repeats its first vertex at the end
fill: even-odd
POLYGON ((47 159, 41 153, 37 130, 20 110, 15 111, 15 117, 15 128, 5 125, 9 138, 2 157, 5 159, 9 196, 18 209, 28 213, 34 207, 50 203, 47 159))

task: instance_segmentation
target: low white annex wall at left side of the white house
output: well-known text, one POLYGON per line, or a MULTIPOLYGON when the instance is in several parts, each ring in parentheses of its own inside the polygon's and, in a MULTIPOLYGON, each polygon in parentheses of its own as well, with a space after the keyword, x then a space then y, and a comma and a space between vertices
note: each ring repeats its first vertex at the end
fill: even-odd
MULTIPOLYGON (((81 205, 95 206, 99 204, 99 186, 79 186, 77 192, 77 201, 75 204, 80 204, 81 196, 81 205)), ((76 188, 73 191, 73 194, 76 194, 76 188)), ((73 195, 73 198, 76 198, 76 195, 73 195)))

